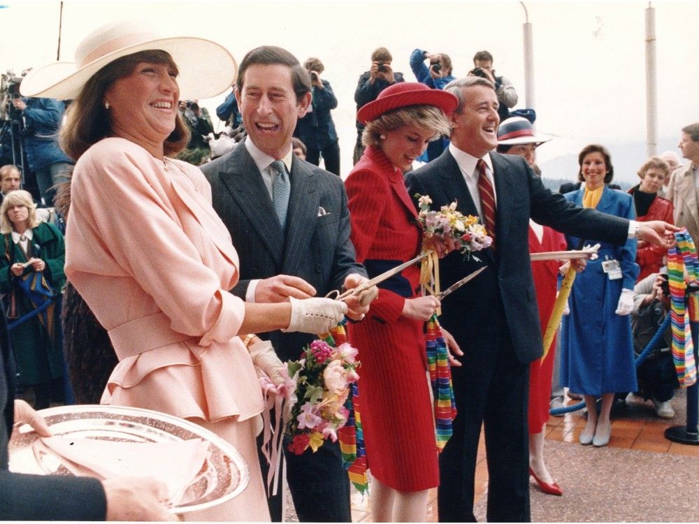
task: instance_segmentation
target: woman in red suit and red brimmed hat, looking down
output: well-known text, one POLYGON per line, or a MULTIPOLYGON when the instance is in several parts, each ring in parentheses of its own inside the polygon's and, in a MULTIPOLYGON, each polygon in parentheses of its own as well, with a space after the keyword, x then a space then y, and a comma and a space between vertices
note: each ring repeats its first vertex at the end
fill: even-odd
MULTIPOLYGON (((403 171, 431 140, 449 134, 445 113, 456 104, 452 94, 404 82, 384 89, 357 113, 366 124, 366 150, 345 187, 356 259, 370 277, 420 252, 421 229, 403 171)), ((439 484, 423 332, 439 301, 419 296, 418 287, 419 268, 412 265, 380 284, 366 318, 349 328, 361 361, 361 418, 375 522, 424 521, 427 490, 439 484)))

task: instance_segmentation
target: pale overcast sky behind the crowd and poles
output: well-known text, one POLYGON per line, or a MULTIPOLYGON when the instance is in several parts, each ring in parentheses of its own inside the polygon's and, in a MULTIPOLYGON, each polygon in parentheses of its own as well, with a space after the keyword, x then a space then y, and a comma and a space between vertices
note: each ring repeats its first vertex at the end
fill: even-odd
MULTIPOLYGON (((56 59, 59 1, 5 2, 0 9, 0 71, 17 74, 56 59)), ((539 150, 545 163, 587 143, 646 140, 645 10, 648 2, 526 1, 533 24, 536 125, 556 136, 539 150)), ((658 141, 673 147, 679 129, 699 120, 696 22, 699 2, 652 2, 656 11, 658 141)), ((287 48, 303 61, 319 57, 339 105, 343 175, 352 166, 354 89, 371 52, 389 48, 394 70, 415 80, 410 52, 422 48, 452 57, 466 75, 477 50, 489 50, 499 75, 510 78, 524 107, 525 11, 513 1, 389 2, 78 2, 63 8, 61 59, 72 60, 80 40, 99 25, 145 17, 173 34, 203 36, 226 45, 240 61, 257 45, 287 48)), ((206 59, 206 57, 202 57, 206 59)), ((201 101, 210 108, 222 101, 201 101)), ((643 159, 640 159, 640 164, 643 159)), ((623 174, 620 174, 622 177, 623 174)), ((633 173, 630 175, 633 177, 633 173)), ((631 180, 631 179, 629 179, 631 180)))

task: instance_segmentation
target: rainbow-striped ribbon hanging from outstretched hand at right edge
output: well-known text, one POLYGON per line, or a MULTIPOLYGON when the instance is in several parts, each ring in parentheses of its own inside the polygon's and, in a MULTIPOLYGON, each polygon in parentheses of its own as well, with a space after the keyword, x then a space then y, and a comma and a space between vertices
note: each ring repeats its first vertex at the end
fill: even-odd
POLYGON ((699 321, 699 298, 697 293, 685 295, 687 284, 699 284, 699 260, 694 242, 686 229, 675 233, 675 238, 677 245, 668 250, 672 360, 675 361, 679 385, 689 387, 697 380, 689 323, 699 321))

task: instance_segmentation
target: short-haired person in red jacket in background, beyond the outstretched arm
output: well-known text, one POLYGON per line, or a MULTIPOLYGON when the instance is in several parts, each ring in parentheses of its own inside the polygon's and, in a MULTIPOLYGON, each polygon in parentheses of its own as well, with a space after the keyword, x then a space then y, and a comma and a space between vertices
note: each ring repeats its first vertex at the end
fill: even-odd
MULTIPOLYGON (((640 184, 628 190, 633 195, 633 203, 636 207, 636 220, 647 222, 649 220, 664 220, 668 224, 675 224, 672 219, 674 208, 672 202, 658 196, 658 191, 663 187, 665 179, 670 176, 670 166, 660 157, 650 157, 638 170, 641 179, 640 184)), ((663 265, 663 257, 668 254, 668 249, 638 241, 636 263, 640 266, 640 273, 636 282, 647 277, 651 273, 660 271, 663 265)))

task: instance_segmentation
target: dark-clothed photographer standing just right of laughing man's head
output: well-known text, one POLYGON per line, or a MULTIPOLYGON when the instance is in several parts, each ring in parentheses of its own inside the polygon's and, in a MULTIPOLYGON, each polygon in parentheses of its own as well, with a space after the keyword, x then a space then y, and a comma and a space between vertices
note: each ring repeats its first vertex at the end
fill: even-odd
POLYGON ((325 169, 339 176, 340 145, 335 122, 330 115, 330 111, 338 107, 338 99, 335 98, 330 82, 320 78, 320 74, 325 71, 320 59, 309 58, 303 63, 303 67, 310 75, 313 99, 305 116, 296 122, 294 136, 300 138, 306 146, 306 161, 319 166, 322 157, 325 169))

